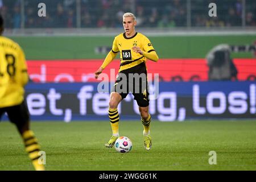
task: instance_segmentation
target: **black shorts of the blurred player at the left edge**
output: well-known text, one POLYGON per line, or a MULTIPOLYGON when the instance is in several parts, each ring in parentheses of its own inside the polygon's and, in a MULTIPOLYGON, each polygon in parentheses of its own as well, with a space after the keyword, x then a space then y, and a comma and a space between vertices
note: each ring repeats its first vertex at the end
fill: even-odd
POLYGON ((30 121, 26 101, 23 101, 22 104, 19 105, 0 108, 0 121, 4 113, 7 113, 10 122, 15 123, 18 126, 23 126, 24 123, 30 121))

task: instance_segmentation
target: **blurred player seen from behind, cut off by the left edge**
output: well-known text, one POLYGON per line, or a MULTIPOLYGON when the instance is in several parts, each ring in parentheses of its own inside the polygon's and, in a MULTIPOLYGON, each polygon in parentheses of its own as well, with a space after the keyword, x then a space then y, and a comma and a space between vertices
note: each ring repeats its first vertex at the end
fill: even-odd
POLYGON ((3 18, 0 15, 0 119, 7 113, 23 139, 24 146, 37 171, 44 171, 39 163, 40 147, 30 130, 30 117, 24 101, 24 86, 28 82, 27 64, 22 48, 2 36, 3 18))

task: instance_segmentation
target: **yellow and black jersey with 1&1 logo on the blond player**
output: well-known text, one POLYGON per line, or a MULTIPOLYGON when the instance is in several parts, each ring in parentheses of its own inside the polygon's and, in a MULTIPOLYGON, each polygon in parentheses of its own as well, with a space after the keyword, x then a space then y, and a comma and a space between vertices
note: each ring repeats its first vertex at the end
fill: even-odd
POLYGON ((146 57, 132 50, 134 46, 140 47, 144 52, 155 51, 150 40, 141 33, 136 32, 135 35, 130 38, 127 38, 125 33, 115 36, 112 52, 120 52, 121 63, 119 72, 146 62, 146 57))

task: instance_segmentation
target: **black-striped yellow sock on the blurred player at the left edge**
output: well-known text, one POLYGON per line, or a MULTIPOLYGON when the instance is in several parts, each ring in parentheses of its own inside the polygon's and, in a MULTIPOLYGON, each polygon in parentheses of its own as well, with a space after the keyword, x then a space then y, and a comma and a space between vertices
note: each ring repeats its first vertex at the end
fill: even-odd
POLYGON ((32 160, 32 164, 35 167, 36 171, 44 171, 44 165, 39 164, 39 151, 40 146, 38 144, 38 140, 35 138, 34 133, 31 130, 25 131, 22 134, 22 138, 25 144, 26 151, 28 152, 28 156, 32 160))

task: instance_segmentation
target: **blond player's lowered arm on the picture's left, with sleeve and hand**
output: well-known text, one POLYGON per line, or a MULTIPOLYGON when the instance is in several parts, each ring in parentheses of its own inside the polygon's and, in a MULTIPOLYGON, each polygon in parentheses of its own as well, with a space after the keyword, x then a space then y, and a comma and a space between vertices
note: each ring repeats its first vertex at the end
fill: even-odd
POLYGON ((102 71, 106 68, 106 66, 114 60, 115 56, 117 56, 118 51, 119 49, 117 46, 117 40, 114 39, 112 49, 109 51, 108 55, 106 56, 100 68, 98 68, 97 71, 94 72, 94 77, 96 79, 102 73, 102 71))

